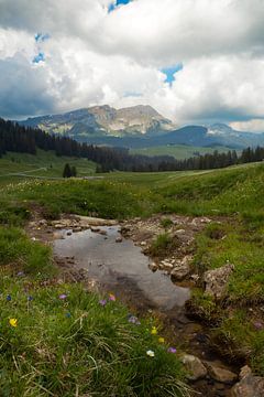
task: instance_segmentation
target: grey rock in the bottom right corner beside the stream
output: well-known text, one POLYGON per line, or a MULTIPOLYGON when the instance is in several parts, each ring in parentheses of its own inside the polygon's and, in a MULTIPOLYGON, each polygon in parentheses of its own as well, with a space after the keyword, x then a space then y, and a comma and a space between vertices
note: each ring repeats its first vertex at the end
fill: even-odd
POLYGON ((231 389, 231 397, 264 397, 264 378, 246 375, 231 389))

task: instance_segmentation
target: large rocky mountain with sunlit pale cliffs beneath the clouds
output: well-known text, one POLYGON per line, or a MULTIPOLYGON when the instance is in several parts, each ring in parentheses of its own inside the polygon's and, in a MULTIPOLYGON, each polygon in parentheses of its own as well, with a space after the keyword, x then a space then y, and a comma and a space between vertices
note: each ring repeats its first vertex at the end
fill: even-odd
POLYGON ((170 120, 144 105, 123 109, 108 105, 94 106, 62 115, 29 118, 20 124, 52 133, 66 133, 78 140, 89 137, 153 136, 175 129, 170 120))

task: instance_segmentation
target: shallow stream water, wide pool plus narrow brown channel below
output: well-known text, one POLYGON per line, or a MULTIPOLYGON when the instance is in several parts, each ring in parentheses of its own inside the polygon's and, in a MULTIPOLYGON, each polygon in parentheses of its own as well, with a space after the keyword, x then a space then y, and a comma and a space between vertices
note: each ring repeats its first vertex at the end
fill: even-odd
MULTIPOLYGON (((207 330, 187 316, 185 303, 190 289, 177 286, 162 271, 152 272, 150 258, 132 240, 120 235, 119 226, 100 226, 72 233, 64 229, 62 239, 54 242, 54 254, 59 258, 74 258, 75 266, 88 271, 101 289, 113 292, 139 312, 155 311, 172 328, 176 343, 189 354, 216 365, 230 368, 209 344, 207 330)), ((209 376, 193 387, 200 396, 229 396, 231 385, 215 382, 209 376)))

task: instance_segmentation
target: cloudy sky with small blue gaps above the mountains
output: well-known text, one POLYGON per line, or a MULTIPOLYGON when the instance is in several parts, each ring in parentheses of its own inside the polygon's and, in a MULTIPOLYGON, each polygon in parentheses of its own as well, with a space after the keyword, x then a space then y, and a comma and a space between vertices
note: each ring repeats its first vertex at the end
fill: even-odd
POLYGON ((264 131, 263 0, 0 0, 0 116, 151 105, 264 131))

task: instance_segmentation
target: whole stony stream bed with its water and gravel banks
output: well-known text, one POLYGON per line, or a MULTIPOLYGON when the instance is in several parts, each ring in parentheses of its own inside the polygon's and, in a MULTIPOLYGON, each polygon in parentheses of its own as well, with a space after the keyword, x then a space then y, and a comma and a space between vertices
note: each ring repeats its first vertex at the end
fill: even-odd
POLYGON ((95 281, 140 313, 148 311, 158 315, 169 329, 170 337, 187 353, 183 360, 194 373, 193 388, 202 396, 229 396, 239 367, 230 367, 212 350, 209 330, 189 318, 185 305, 197 278, 189 267, 194 237, 211 219, 184 216, 169 219, 172 223, 165 222, 166 232, 174 234, 178 244, 161 261, 144 255, 150 255, 153 239, 164 233, 165 223, 158 216, 124 222, 121 227, 113 221, 75 216, 65 216, 59 222, 35 219, 28 233, 32 238, 54 244, 55 258, 66 275, 95 281), (187 277, 178 276, 183 272, 180 262, 188 269, 187 277), (176 283, 170 280, 174 269, 177 269, 176 283))

